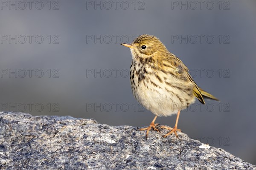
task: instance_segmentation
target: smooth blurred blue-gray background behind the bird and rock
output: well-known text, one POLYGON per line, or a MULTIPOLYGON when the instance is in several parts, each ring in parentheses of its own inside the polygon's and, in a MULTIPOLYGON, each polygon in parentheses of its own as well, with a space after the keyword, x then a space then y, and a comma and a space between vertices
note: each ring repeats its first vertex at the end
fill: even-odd
POLYGON ((1 0, 1 111, 148 126, 154 115, 131 93, 131 54, 119 43, 151 34, 221 100, 197 100, 178 127, 256 164, 255 30, 253 0, 1 0))

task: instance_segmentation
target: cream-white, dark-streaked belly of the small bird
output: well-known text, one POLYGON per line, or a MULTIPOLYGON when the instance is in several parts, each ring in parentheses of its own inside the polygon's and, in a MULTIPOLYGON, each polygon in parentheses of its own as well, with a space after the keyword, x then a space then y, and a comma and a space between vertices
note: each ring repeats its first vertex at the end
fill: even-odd
MULTIPOLYGON (((168 81, 175 85, 174 77, 170 77, 168 81)), ((179 85, 179 87, 189 88, 188 85, 179 85)), ((183 110, 195 102, 192 91, 188 94, 186 91, 166 85, 154 75, 145 75, 145 78, 139 81, 138 75, 135 74, 134 79, 131 79, 131 88, 137 101, 157 116, 177 114, 178 110, 183 110)))

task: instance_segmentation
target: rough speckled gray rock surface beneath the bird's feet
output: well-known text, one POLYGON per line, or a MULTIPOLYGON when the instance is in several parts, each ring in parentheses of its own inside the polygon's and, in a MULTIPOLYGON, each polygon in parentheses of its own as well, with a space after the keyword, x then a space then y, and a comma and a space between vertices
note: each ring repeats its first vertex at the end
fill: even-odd
MULTIPOLYGON (((162 130, 163 134, 167 130, 162 130)), ((255 170, 224 150, 184 133, 162 138, 137 127, 101 125, 71 116, 0 113, 2 170, 255 170)))

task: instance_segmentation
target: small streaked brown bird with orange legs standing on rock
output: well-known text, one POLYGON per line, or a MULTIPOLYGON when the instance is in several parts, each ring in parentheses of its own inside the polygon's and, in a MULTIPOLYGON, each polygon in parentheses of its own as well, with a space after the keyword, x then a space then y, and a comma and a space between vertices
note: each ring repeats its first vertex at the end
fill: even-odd
POLYGON ((195 102, 195 98, 203 104, 205 104, 203 97, 218 100, 195 84, 186 65, 170 53, 157 37, 143 34, 131 44, 121 43, 121 45, 131 49, 132 93, 138 102, 156 115, 148 127, 140 129, 147 130, 146 138, 151 128, 160 132, 156 127, 158 124, 154 123, 157 116, 177 114, 173 128, 167 126, 160 128, 171 130, 163 137, 172 133, 178 137, 177 131, 181 130, 177 129, 177 124, 181 110, 195 102))

